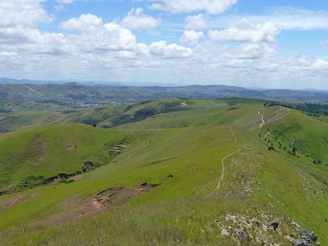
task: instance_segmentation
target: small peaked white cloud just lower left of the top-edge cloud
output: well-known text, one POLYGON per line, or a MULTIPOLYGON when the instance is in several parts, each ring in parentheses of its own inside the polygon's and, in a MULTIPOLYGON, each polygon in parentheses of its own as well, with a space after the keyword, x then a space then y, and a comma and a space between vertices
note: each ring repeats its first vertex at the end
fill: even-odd
POLYGON ((120 25, 131 30, 151 30, 157 26, 160 26, 160 18, 156 19, 149 15, 143 15, 142 12, 143 9, 141 8, 137 8, 136 10, 132 8, 128 15, 123 18, 120 25))

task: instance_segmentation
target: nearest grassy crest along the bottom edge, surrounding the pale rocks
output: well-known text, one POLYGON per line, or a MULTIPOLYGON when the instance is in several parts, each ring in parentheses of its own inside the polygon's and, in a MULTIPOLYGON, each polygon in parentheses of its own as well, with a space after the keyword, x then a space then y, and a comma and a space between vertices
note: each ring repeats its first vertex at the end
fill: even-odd
MULTIPOLYGON (((224 221, 222 216, 231 214, 245 216, 248 220, 253 217, 260 219, 259 212, 262 210, 268 211, 268 219, 271 214, 280 218, 286 216, 269 206, 248 199, 191 198, 133 207, 115 206, 88 219, 68 224, 59 223, 48 227, 43 225, 41 228, 30 225, 23 231, 18 231, 18 234, 16 231, 15 234, 6 232, 2 239, 7 245, 91 245, 91 242, 94 245, 206 245, 220 242, 233 245, 235 241, 222 236, 222 227, 215 221, 234 226, 233 222, 224 221)), ((294 232, 287 219, 281 219, 281 222, 286 223, 286 231, 294 232)), ((263 237, 272 236, 267 231, 262 233, 263 237)), ((244 241, 244 245, 261 245, 256 243, 250 232, 247 235, 250 238, 249 241, 244 241)), ((283 235, 275 236, 277 241, 288 243, 283 235)), ((295 238, 299 237, 295 233, 295 238)))

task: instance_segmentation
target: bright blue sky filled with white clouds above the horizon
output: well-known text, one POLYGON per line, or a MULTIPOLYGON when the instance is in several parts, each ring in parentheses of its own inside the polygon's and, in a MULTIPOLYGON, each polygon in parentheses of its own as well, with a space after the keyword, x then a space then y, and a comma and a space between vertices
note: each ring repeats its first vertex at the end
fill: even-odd
POLYGON ((1 0, 0 77, 328 89, 328 2, 1 0))

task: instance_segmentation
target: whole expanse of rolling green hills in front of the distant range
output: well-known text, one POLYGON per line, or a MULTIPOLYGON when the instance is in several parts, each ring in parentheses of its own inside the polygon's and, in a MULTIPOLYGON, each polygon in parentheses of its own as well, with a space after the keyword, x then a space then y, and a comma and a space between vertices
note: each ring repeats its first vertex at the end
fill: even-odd
POLYGON ((328 244, 324 121, 245 98, 63 117, 0 135, 5 245, 328 244))

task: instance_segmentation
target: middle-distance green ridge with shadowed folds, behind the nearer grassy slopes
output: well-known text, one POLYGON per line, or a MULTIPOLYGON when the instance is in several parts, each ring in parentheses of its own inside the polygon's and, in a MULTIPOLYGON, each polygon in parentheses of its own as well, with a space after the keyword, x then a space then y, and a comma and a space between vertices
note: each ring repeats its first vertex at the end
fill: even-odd
MULTIPOLYGON (((264 101, 259 99, 246 99, 246 98, 223 98, 223 99, 186 99, 186 98, 169 98, 156 101, 142 101, 132 105, 116 105, 116 106, 103 106, 91 109, 64 109, 62 111, 40 111, 24 114, 15 114, 14 116, 4 113, 0 120, 0 131, 15 132, 34 127, 40 127, 50 124, 58 123, 81 123, 93 126, 96 124, 98 127, 111 128, 121 125, 126 125, 132 122, 138 122, 144 120, 150 116, 157 116, 161 113, 179 112, 176 115, 180 115, 180 112, 187 111, 188 115, 229 111, 236 109, 235 104, 262 104, 264 101), (205 109, 207 111, 191 111, 196 109, 205 109)), ((1 114, 0 114, 1 116, 1 114)), ((171 117, 171 116, 170 116, 171 117)), ((174 115, 173 115, 174 117, 174 115)), ((188 123, 182 126, 195 126, 197 122, 194 119, 190 119, 193 124, 188 123)), ((212 124, 212 121, 208 119, 199 124, 212 124)), ((169 122, 172 127, 176 127, 169 122)), ((178 126, 179 127, 179 126, 178 126)), ((1 133, 1 132, 0 132, 1 133)))

